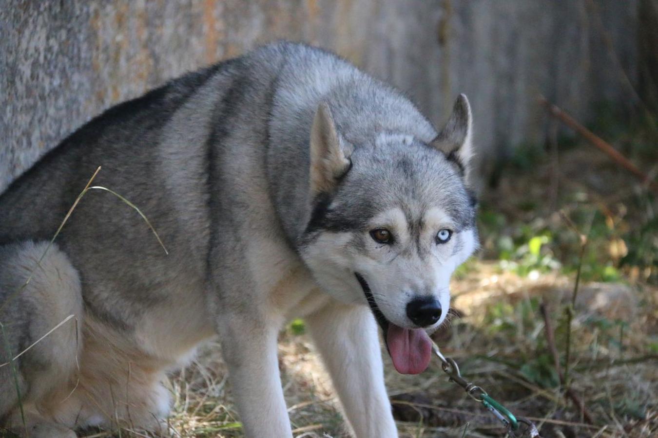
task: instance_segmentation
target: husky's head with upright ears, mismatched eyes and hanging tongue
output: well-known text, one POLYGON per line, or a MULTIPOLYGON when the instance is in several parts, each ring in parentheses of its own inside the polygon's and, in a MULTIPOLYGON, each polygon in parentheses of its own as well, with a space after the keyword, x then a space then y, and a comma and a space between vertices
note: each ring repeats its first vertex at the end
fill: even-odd
POLYGON ((450 276, 478 245, 470 137, 464 95, 429 143, 381 133, 355 147, 326 104, 313 121, 313 208, 300 253, 329 294, 370 305, 399 372, 426 368, 426 330, 445 319, 450 276))

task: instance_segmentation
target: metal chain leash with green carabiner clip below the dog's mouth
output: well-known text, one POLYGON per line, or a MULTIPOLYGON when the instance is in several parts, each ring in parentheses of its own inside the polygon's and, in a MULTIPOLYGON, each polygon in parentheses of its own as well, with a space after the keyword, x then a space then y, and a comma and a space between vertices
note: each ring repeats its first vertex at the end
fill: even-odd
POLYGON ((457 362, 451 357, 443 356, 441 350, 434 341, 432 341, 432 345, 434 347, 434 353, 441 360, 441 368, 443 372, 449 376, 450 382, 455 382, 457 385, 463 387, 464 391, 466 391, 471 399, 482 403, 485 408, 492 412, 492 414, 505 425, 510 437, 520 438, 527 434, 530 438, 541 438, 539 431, 533 422, 527 418, 515 416, 505 408, 505 406, 495 401, 487 391, 484 391, 484 389, 475 383, 468 382, 468 380, 461 376, 457 362), (524 424, 525 427, 520 426, 520 424, 524 424))

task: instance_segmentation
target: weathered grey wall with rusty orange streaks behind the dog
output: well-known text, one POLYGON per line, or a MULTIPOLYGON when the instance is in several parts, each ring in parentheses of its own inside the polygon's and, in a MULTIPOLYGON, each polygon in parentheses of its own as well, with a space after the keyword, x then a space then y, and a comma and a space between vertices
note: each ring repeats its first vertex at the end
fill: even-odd
POLYGON ((0 190, 105 108, 283 37, 392 81, 436 122, 467 93, 490 162, 543 138, 538 93, 585 120, 632 99, 620 69, 636 81, 636 3, 0 0, 0 190))

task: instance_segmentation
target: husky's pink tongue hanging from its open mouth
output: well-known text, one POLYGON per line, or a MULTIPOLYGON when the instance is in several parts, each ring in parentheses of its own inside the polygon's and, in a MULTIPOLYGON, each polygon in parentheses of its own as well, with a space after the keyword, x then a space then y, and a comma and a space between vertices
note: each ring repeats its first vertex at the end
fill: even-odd
POLYGON ((418 374, 430 363, 432 341, 422 328, 401 328, 389 323, 386 342, 397 372, 418 374))

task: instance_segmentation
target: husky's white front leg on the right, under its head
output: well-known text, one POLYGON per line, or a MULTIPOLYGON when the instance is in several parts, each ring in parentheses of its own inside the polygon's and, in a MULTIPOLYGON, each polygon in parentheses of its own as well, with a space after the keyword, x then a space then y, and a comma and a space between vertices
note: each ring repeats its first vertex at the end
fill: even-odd
POLYGON ((306 321, 355 435, 397 437, 377 326, 369 309, 334 302, 306 321))

